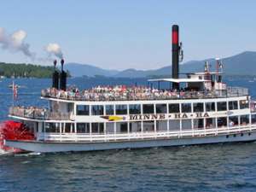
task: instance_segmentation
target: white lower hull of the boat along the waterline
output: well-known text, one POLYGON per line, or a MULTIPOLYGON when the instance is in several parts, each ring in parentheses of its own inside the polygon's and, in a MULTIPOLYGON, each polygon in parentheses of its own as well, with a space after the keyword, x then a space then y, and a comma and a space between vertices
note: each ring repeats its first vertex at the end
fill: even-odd
POLYGON ((256 131, 236 133, 230 135, 216 135, 204 137, 181 137, 170 139, 151 139, 137 141, 118 141, 101 143, 82 142, 39 142, 39 141, 11 141, 6 140, 9 147, 21 148, 26 151, 49 153, 67 151, 96 151, 121 148, 154 148, 184 146, 210 143, 235 143, 256 141, 256 131))

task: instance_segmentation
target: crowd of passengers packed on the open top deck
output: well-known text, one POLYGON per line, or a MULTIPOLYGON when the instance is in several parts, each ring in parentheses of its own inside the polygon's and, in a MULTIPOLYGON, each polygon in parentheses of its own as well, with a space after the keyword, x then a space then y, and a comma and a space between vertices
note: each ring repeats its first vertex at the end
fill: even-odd
POLYGON ((213 96, 210 92, 200 92, 195 90, 158 90, 146 86, 125 85, 97 86, 89 90, 79 90, 70 87, 65 90, 48 88, 42 90, 42 96, 53 96, 70 100, 90 100, 90 101, 115 101, 115 100, 154 100, 154 99, 174 99, 174 98, 200 98, 203 96, 213 96))

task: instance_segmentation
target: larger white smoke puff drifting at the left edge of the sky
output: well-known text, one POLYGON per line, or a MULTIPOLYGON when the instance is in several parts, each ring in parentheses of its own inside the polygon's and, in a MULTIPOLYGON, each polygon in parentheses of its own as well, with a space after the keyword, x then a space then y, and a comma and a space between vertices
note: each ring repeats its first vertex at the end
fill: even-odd
POLYGON ((6 34, 3 27, 0 27, 0 45, 2 49, 9 49, 10 51, 20 51, 24 55, 35 59, 35 53, 30 50, 30 44, 25 43, 26 32, 18 30, 12 34, 6 34))

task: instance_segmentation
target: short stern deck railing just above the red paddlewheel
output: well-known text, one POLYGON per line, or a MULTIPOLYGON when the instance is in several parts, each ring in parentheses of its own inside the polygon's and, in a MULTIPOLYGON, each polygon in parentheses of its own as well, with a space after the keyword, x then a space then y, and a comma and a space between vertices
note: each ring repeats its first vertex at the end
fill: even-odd
POLYGON ((45 108, 24 108, 15 106, 9 108, 9 115, 29 119, 70 120, 72 113, 49 112, 45 108))

